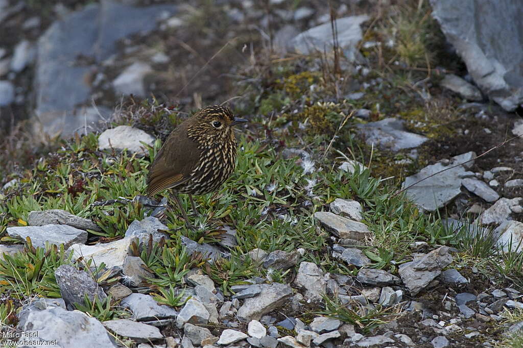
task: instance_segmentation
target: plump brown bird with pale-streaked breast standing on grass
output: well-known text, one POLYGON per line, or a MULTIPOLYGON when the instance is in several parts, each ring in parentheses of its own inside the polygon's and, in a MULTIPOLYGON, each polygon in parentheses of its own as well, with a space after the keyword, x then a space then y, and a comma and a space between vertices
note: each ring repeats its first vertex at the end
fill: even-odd
POLYGON ((229 108, 213 105, 201 109, 180 123, 156 154, 147 175, 147 196, 167 189, 192 227, 178 194, 189 195, 192 212, 197 215, 192 195, 216 191, 234 171, 236 137, 233 127, 248 122, 234 117, 229 108))

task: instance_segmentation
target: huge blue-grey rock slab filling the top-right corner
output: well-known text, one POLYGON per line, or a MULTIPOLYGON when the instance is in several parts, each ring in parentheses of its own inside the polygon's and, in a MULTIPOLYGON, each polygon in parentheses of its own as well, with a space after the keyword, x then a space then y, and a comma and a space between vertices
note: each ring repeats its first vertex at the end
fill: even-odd
POLYGON ((474 82, 507 111, 523 103, 519 0, 430 0, 441 31, 474 82))

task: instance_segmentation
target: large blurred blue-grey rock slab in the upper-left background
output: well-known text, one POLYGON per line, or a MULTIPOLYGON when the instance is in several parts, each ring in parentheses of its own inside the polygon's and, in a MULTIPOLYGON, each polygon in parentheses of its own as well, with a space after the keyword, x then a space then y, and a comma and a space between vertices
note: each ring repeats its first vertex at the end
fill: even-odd
MULTIPOLYGON (((132 34, 145 34, 157 20, 173 14, 174 5, 132 6, 103 0, 56 20, 37 45, 35 73, 36 118, 50 134, 73 134, 100 121, 98 112, 82 112, 78 105, 90 102, 91 86, 85 76, 117 52, 116 42, 132 34), (78 64, 78 56, 90 63, 78 64), (67 98, 64 98, 67 96, 67 98)), ((103 117, 110 110, 98 107, 103 117)))

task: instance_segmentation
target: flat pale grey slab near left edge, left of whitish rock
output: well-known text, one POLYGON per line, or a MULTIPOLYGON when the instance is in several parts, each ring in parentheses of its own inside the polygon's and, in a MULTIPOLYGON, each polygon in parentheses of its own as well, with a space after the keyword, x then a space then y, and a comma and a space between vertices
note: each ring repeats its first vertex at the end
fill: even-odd
POLYGON ((22 241, 29 237, 35 248, 44 248, 46 242, 56 245, 63 243, 65 248, 69 248, 74 243, 85 243, 87 241, 87 231, 68 225, 7 227, 7 235, 22 241))

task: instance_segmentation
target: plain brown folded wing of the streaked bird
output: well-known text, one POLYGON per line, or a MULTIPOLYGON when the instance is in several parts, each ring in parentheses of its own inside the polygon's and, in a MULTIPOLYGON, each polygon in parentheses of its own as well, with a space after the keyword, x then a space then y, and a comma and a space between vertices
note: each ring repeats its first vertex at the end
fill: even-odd
POLYGON ((200 150, 187 136, 187 122, 180 124, 156 154, 147 176, 147 195, 174 188, 190 179, 198 163, 200 150))

